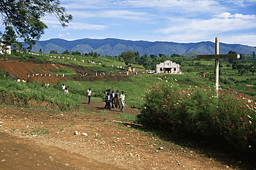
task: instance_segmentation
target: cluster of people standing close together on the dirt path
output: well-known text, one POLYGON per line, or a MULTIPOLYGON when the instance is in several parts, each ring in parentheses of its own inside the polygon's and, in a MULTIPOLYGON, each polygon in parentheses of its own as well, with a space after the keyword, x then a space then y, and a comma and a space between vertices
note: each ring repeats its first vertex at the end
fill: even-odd
POLYGON ((112 108, 120 108, 120 111, 124 111, 125 108, 125 93, 122 91, 120 94, 119 91, 112 91, 110 92, 110 89, 108 89, 105 93, 105 106, 104 109, 109 109, 111 110, 111 105, 112 108), (120 102, 122 106, 120 106, 120 102))

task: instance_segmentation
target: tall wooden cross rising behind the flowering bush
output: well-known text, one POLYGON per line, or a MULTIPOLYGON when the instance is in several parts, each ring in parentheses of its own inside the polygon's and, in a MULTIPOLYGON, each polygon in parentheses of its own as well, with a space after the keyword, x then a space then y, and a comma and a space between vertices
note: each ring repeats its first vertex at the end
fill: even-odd
POLYGON ((197 59, 215 59, 215 86, 219 91, 219 59, 239 59, 240 55, 219 55, 219 38, 215 37, 215 55, 196 55, 197 59))

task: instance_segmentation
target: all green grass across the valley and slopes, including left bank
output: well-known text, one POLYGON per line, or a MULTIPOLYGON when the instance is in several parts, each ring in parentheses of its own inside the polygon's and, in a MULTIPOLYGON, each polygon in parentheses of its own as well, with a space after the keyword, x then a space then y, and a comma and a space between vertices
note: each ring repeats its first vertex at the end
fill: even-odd
MULTIPOLYGON (((1 55, 3 56, 3 55, 1 55)), ((37 57, 34 55, 21 55, 19 53, 11 55, 11 57, 19 57, 20 59, 41 59, 46 61, 47 59, 52 59, 53 63, 64 63, 64 64, 76 64, 84 66, 86 68, 91 68, 98 72, 117 73, 120 69, 117 66, 125 67, 124 62, 118 61, 118 57, 96 57, 82 56, 82 55, 56 55, 70 57, 71 59, 55 59, 46 57, 37 57), (74 61, 76 59, 76 61, 74 61), (84 62, 81 62, 81 60, 84 62), (86 63, 86 61, 95 61, 97 63, 102 63, 102 65, 94 65, 86 63), (113 67, 112 67, 113 65, 113 67)), ((6 56, 4 56, 6 57, 6 56)), ((219 84, 221 88, 231 88, 232 90, 239 91, 247 95, 256 95, 256 77, 251 75, 251 73, 245 73, 243 76, 238 74, 237 70, 232 70, 232 68, 227 67, 228 63, 221 61, 221 67, 219 76, 219 84)), ((134 65, 137 70, 144 71, 143 66, 134 65)), ((41 88, 41 84, 38 82, 30 82, 29 84, 17 84, 17 82, 12 82, 10 79, 2 79, 0 82, 0 96, 5 96, 7 94, 15 96, 15 100, 21 100, 27 103, 29 100, 35 100, 38 102, 46 101, 53 106, 57 106, 60 110, 71 111, 74 109, 81 108, 80 100, 82 97, 86 97, 86 91, 91 88, 93 91, 93 96, 91 100, 97 102, 104 101, 104 93, 107 89, 125 91, 126 95, 126 106, 131 106, 134 108, 140 108, 143 104, 143 95, 147 88, 151 86, 157 86, 154 84, 154 80, 158 77, 168 79, 177 79, 180 86, 190 85, 199 87, 208 87, 214 85, 214 60, 192 60, 188 59, 183 62, 181 70, 184 70, 184 75, 134 75, 129 76, 130 81, 119 81, 119 82, 76 82, 76 81, 65 81, 58 82, 53 85, 53 88, 46 91, 45 88, 41 88), (200 66, 195 66, 196 63, 201 63, 200 66), (185 70, 190 70, 186 72, 185 70), (199 77, 198 73, 206 73, 206 77, 199 77), (60 86, 62 84, 68 86, 70 94, 66 95, 60 91, 60 86), (185 85, 184 85, 185 84, 185 85)), ((59 72, 66 72, 68 74, 74 74, 71 70, 57 70, 59 72)), ((124 76, 124 75, 120 75, 124 76)))

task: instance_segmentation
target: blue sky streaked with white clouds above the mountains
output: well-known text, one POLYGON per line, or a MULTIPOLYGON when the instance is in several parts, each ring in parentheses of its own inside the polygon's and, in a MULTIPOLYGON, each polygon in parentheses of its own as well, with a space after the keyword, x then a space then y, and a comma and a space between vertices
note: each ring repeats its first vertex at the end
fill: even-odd
POLYGON ((60 0, 73 21, 43 21, 40 40, 117 38, 256 46, 256 0, 60 0))

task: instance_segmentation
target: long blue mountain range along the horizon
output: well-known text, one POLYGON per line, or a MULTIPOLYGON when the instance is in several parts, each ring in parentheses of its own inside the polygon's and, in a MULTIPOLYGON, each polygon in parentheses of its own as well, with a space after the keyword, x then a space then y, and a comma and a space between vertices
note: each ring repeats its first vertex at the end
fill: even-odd
MULTIPOLYGON (((64 39, 49 39, 46 41, 36 41, 33 46, 33 52, 50 53, 51 50, 56 50, 57 53, 62 53, 64 50, 79 51, 80 53, 97 52, 100 55, 118 56, 122 52, 132 50, 140 55, 158 55, 159 53, 165 55, 183 54, 201 55, 214 54, 214 42, 201 41, 198 43, 175 43, 167 41, 130 41, 123 39, 77 39, 67 41, 64 39), (193 52, 193 53, 191 53, 193 52)), ((244 46, 241 44, 223 44, 220 43, 220 54, 228 54, 232 50, 237 54, 252 55, 256 51, 256 47, 244 46)))

